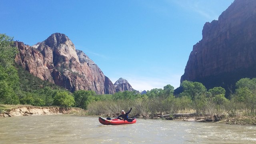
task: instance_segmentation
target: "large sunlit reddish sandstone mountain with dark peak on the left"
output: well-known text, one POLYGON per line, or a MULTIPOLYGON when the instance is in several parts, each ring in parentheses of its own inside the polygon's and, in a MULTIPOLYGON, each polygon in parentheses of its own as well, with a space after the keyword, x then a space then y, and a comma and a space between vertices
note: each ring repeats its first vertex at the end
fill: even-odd
POLYGON ((64 34, 52 34, 34 46, 16 42, 19 54, 15 61, 34 76, 62 86, 71 92, 94 90, 97 94, 113 94, 115 88, 108 77, 86 54, 76 50, 64 34))

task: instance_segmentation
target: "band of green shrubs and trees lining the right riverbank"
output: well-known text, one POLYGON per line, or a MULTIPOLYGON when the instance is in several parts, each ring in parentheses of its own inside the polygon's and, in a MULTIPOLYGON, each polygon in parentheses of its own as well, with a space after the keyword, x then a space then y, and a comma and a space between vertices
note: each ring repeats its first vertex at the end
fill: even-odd
POLYGON ((186 80, 181 86, 183 92, 177 96, 173 95, 173 87, 167 85, 163 90, 152 89, 144 95, 119 92, 108 99, 101 97, 88 104, 88 114, 116 117, 121 110, 132 107, 130 117, 182 120, 193 117, 202 122, 256 125, 256 78, 239 80, 237 89, 228 98, 221 87, 207 91, 203 84, 186 80), (187 113, 194 116, 184 115, 187 113))

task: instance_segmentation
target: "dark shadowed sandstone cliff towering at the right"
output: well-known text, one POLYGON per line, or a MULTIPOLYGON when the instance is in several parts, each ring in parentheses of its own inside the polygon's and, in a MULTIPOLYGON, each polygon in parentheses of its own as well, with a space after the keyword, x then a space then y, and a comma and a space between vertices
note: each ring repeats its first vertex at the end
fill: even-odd
POLYGON ((256 77, 255 70, 256 1, 234 0, 218 20, 204 24, 202 40, 193 46, 180 81, 228 90, 240 78, 256 77))

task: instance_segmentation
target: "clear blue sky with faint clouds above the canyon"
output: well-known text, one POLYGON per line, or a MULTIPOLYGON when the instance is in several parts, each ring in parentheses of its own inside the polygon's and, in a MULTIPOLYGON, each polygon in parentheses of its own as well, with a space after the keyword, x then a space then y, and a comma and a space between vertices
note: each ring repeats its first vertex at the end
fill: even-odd
POLYGON ((66 34, 114 83, 177 88, 205 22, 234 0, 0 0, 0 33, 30 46, 66 34))

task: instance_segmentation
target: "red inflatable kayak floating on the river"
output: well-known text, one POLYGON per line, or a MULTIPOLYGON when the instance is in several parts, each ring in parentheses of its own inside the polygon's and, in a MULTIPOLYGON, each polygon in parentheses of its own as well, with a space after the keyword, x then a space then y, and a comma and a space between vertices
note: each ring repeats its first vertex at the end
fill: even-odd
POLYGON ((118 118, 107 120, 105 118, 99 117, 99 122, 105 125, 134 124, 136 121, 136 118, 128 118, 128 120, 120 120, 118 118))

